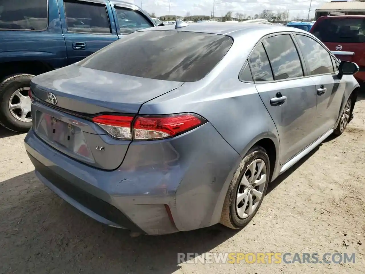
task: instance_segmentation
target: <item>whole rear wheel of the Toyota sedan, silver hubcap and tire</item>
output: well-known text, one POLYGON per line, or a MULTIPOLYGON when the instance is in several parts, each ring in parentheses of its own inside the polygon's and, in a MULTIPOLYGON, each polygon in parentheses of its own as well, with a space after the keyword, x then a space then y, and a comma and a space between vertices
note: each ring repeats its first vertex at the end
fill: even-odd
POLYGON ((269 184, 269 156, 261 146, 247 152, 228 188, 220 223, 239 229, 255 216, 269 184))

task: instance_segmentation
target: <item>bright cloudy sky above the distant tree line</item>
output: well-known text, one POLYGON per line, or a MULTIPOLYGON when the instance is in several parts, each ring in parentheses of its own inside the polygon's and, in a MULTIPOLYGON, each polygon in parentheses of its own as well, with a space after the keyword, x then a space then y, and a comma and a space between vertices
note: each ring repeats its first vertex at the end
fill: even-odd
MULTIPOLYGON (((128 1, 128 0, 127 0, 128 1)), ((134 4, 146 10, 154 12, 157 16, 168 15, 169 0, 130 0, 134 4)), ((185 16, 187 12, 191 15, 211 15, 214 0, 170 0, 170 14, 185 16)), ((329 1, 329 0, 327 0, 329 1)), ((324 3, 324 0, 313 0, 311 17, 314 17, 315 9, 324 3)), ((289 9, 289 18, 308 16, 310 0, 215 0, 215 16, 223 16, 227 11, 233 14, 254 15, 260 14, 263 9, 284 11, 289 9)))

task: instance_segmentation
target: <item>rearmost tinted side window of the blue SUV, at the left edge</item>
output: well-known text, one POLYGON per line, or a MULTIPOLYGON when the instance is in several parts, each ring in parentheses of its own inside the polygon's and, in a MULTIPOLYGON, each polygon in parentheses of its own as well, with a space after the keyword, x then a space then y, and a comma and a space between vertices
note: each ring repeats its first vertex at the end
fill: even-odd
POLYGON ((47 0, 0 0, 0 28, 46 30, 47 0))

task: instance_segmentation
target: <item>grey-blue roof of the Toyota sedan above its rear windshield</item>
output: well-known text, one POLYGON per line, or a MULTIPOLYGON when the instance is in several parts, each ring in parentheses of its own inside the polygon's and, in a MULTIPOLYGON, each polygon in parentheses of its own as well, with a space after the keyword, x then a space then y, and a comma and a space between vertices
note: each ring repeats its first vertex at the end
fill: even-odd
MULTIPOLYGON (((175 28, 175 25, 145 28, 139 31, 189 31, 198 33, 211 33, 211 34, 230 34, 230 36, 241 36, 248 33, 255 33, 265 35, 269 33, 294 31, 286 26, 276 26, 268 24, 257 24, 257 23, 227 23, 227 22, 211 22, 209 24, 197 24, 192 23, 185 27, 175 28)), ((138 32, 139 32, 138 31, 138 32)), ((295 29, 296 32, 307 33, 306 31, 295 29)))

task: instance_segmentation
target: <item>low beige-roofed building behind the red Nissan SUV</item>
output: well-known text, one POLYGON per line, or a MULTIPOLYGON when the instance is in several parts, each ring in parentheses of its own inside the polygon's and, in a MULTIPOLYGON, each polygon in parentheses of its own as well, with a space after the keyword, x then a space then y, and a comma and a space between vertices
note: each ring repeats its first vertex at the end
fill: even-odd
POLYGON ((329 12, 342 12, 346 15, 365 15, 365 0, 358 1, 331 1, 316 9, 315 20, 326 16, 329 12))

